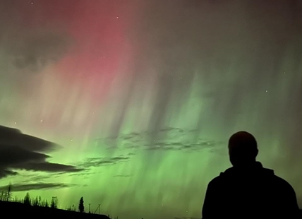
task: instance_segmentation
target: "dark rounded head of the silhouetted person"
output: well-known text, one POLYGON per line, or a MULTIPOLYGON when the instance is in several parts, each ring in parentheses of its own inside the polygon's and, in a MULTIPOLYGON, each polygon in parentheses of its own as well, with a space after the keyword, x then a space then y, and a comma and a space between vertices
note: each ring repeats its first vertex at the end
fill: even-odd
POLYGON ((257 141, 252 134, 238 131, 229 138, 229 160, 233 166, 251 165, 257 155, 257 141))

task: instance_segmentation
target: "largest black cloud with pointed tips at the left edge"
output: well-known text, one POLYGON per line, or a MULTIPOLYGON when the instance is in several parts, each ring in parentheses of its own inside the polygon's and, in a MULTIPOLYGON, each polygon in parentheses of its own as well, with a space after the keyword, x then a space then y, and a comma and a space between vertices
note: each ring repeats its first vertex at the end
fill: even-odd
POLYGON ((41 172, 80 172, 71 165, 48 162, 48 151, 56 144, 34 136, 22 134, 18 129, 0 126, 0 178, 16 175, 14 170, 41 172))

